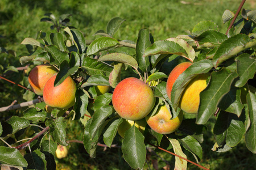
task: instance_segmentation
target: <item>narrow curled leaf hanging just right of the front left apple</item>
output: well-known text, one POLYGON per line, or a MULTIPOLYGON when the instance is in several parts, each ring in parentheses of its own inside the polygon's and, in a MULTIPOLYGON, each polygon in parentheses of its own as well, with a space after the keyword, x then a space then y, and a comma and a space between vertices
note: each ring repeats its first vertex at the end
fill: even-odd
POLYGON ((78 88, 76 91, 76 102, 74 104, 74 111, 76 112, 75 120, 79 120, 82 116, 84 116, 89 99, 88 95, 82 90, 78 88))

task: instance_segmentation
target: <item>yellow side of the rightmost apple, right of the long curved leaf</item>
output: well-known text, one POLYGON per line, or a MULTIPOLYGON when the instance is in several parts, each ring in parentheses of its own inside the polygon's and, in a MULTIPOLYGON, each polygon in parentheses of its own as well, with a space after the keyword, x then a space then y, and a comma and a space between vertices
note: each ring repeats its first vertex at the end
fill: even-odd
POLYGON ((185 87, 180 98, 180 108, 186 113, 196 114, 200 103, 200 92, 207 87, 210 73, 199 74, 185 87))

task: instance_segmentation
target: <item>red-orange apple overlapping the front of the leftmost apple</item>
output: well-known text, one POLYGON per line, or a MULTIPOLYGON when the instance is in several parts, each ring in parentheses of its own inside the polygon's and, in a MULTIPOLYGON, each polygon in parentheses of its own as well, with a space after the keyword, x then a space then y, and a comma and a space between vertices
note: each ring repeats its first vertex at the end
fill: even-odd
POLYGON ((59 86, 54 87, 56 75, 53 75, 44 86, 44 102, 53 108, 68 109, 75 104, 76 83, 68 76, 59 86))

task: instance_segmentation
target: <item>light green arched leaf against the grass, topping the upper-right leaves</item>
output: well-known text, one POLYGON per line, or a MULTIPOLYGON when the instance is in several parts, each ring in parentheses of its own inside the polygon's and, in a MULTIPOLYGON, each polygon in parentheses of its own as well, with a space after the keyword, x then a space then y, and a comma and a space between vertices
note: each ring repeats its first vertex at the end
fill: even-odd
POLYGON ((203 21, 195 25, 195 27, 192 30, 192 35, 197 36, 210 29, 218 31, 218 25, 209 20, 203 21))

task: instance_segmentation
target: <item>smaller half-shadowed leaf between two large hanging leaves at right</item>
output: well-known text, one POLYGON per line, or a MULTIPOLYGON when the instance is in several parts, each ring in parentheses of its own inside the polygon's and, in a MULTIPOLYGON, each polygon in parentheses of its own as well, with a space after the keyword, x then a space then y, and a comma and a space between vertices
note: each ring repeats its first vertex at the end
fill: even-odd
POLYGON ((223 111, 237 114, 240 117, 243 109, 241 103, 241 90, 238 87, 231 86, 230 91, 222 97, 218 107, 223 111))

